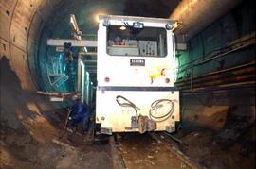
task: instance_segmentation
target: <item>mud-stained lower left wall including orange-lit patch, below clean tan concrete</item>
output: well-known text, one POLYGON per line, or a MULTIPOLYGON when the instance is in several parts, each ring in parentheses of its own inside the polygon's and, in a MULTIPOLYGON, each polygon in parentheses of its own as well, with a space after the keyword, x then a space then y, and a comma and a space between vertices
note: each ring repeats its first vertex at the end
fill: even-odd
MULTIPOLYGON (((30 135, 37 142, 50 141, 56 135, 57 129, 52 126, 53 121, 49 117, 54 110, 54 106, 48 104, 34 91, 27 91, 22 88, 19 77, 11 69, 10 61, 5 56, 0 60, 0 68, 0 126, 3 132, 6 133, 9 130, 22 132, 30 135)), ((2 136, 4 137, 4 135, 2 136)))

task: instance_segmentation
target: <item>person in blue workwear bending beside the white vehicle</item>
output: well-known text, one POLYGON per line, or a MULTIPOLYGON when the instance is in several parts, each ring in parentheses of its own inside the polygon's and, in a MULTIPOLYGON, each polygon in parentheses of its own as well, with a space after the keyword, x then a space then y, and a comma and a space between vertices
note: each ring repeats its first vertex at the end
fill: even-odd
POLYGON ((88 132, 89 110, 86 102, 82 103, 80 97, 76 97, 75 99, 76 103, 71 108, 74 115, 69 117, 69 120, 71 120, 73 127, 77 127, 78 123, 82 122, 83 134, 86 135, 88 132))

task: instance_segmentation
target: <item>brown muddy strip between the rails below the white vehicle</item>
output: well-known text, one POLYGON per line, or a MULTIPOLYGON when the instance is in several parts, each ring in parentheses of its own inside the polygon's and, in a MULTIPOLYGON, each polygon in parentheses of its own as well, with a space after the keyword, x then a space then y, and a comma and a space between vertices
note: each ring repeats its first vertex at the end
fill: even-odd
POLYGON ((122 133, 117 140, 127 169, 189 169, 197 168, 174 151, 174 146, 151 133, 122 133))

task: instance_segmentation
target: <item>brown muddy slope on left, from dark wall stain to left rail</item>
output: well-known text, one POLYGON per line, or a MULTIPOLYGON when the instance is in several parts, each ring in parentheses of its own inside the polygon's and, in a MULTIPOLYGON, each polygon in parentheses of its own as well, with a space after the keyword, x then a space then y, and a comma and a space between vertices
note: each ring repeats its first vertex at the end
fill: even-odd
POLYGON ((27 88, 9 59, 2 58, 0 68, 1 169, 113 168, 109 144, 92 144, 64 131, 67 110, 56 109, 60 103, 49 103, 27 88))

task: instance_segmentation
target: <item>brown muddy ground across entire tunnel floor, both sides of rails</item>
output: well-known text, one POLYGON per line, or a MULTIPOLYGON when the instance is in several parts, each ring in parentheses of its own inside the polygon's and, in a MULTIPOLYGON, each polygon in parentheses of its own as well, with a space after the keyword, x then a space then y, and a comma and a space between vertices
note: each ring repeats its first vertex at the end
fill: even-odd
MULTIPOLYGON (((37 117, 41 124, 33 122, 17 129, 1 123, 1 168, 115 168, 110 144, 93 144, 90 133, 83 136, 81 128, 75 135, 70 126, 64 131, 65 111, 44 112, 44 117, 37 117)), ((231 144, 220 141, 219 134, 209 130, 183 133, 174 135, 183 142, 177 145, 201 166, 255 167, 255 126, 231 144)), ((182 161, 174 162, 174 153, 163 144, 167 136, 160 136, 163 142, 149 139, 146 134, 120 136, 119 148, 127 168, 190 168, 182 161)))

